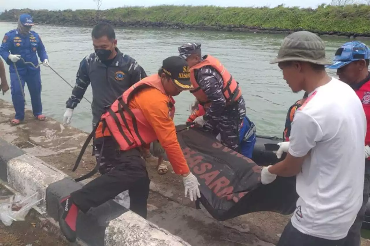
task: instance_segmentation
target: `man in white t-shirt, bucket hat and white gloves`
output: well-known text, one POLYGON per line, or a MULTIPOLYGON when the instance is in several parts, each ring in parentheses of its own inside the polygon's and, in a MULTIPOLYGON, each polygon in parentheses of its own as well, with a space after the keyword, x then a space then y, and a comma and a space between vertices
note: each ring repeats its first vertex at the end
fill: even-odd
POLYGON ((325 44, 316 34, 287 36, 277 58, 293 92, 308 98, 297 109, 283 161, 262 170, 263 184, 296 175, 299 198, 277 246, 340 246, 360 210, 366 118, 349 85, 326 74, 325 44))

